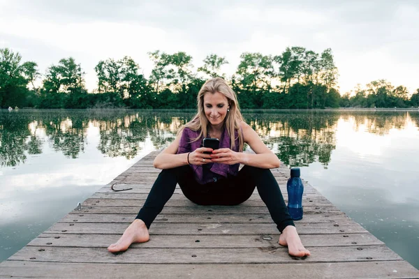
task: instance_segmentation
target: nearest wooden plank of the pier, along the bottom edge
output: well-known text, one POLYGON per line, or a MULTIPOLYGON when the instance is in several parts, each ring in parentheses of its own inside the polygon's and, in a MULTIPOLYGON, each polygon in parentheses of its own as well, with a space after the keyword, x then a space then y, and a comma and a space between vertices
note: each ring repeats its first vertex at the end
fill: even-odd
POLYGON ((0 264, 8 277, 42 278, 419 278, 410 264, 390 262, 332 262, 300 264, 73 264, 7 261, 0 264))

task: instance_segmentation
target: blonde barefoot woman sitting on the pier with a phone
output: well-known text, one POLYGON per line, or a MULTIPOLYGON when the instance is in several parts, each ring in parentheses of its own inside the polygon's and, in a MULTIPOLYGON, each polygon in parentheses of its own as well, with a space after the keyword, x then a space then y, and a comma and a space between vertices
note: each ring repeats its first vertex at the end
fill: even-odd
POLYGON ((184 195, 201 205, 235 205, 251 196, 254 188, 267 205, 281 235, 279 244, 290 255, 310 255, 301 243, 284 198, 270 168, 279 159, 243 121, 234 91, 216 77, 205 82, 198 93, 198 113, 179 130, 176 140, 154 160, 163 169, 137 218, 110 252, 128 249, 131 243, 149 240, 148 229, 179 183, 184 195), (200 147, 203 137, 220 139, 220 148, 200 147), (243 153, 244 143, 256 154, 243 153), (239 172, 240 163, 244 165, 239 172))

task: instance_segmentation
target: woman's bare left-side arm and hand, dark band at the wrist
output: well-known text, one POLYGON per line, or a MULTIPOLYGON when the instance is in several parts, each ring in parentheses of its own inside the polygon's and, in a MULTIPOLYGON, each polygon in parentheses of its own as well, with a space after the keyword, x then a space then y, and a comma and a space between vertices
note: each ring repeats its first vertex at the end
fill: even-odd
MULTIPOLYGON (((182 165, 188 165, 188 153, 177 154, 179 148, 180 138, 182 133, 177 135, 175 141, 173 141, 168 148, 164 149, 156 156, 153 162, 153 167, 157 169, 172 169, 173 167, 181 167, 182 165)), ((200 147, 189 154, 189 163, 191 165, 205 165, 212 163, 210 154, 203 153, 204 151, 212 151, 210 148, 200 147), (203 162, 205 158, 205 162, 203 162)))

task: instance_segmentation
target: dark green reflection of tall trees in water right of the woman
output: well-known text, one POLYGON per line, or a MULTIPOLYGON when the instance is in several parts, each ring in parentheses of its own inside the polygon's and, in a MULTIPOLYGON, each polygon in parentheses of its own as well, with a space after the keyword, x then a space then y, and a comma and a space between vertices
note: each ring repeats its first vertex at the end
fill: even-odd
POLYGON ((327 166, 335 149, 335 129, 339 114, 309 112, 293 114, 245 114, 250 125, 273 149, 282 163, 307 166, 318 161, 327 166))

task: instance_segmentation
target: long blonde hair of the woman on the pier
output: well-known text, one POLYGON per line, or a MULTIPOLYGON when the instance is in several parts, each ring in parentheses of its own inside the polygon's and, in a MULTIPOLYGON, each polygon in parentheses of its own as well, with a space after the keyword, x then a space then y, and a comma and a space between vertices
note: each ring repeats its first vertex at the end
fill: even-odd
POLYGON ((228 105, 230 106, 230 111, 227 112, 226 118, 224 119, 224 125, 226 126, 228 135, 230 136, 230 149, 235 149, 235 131, 237 130, 239 151, 243 151, 243 133, 240 128, 240 122, 243 121, 243 116, 240 113, 239 103, 237 102, 235 92, 221 77, 214 77, 211 80, 207 80, 207 82, 205 82, 205 84, 201 87, 197 97, 198 112, 195 116, 193 116, 191 121, 179 129, 178 135, 179 133, 182 133, 184 128, 189 128, 193 131, 200 130, 198 137, 196 137, 196 139, 192 139, 192 142, 196 142, 203 137, 203 135, 207 135, 208 119, 204 110, 204 96, 207 93, 214 94, 216 92, 223 94, 223 96, 227 98, 228 105))

